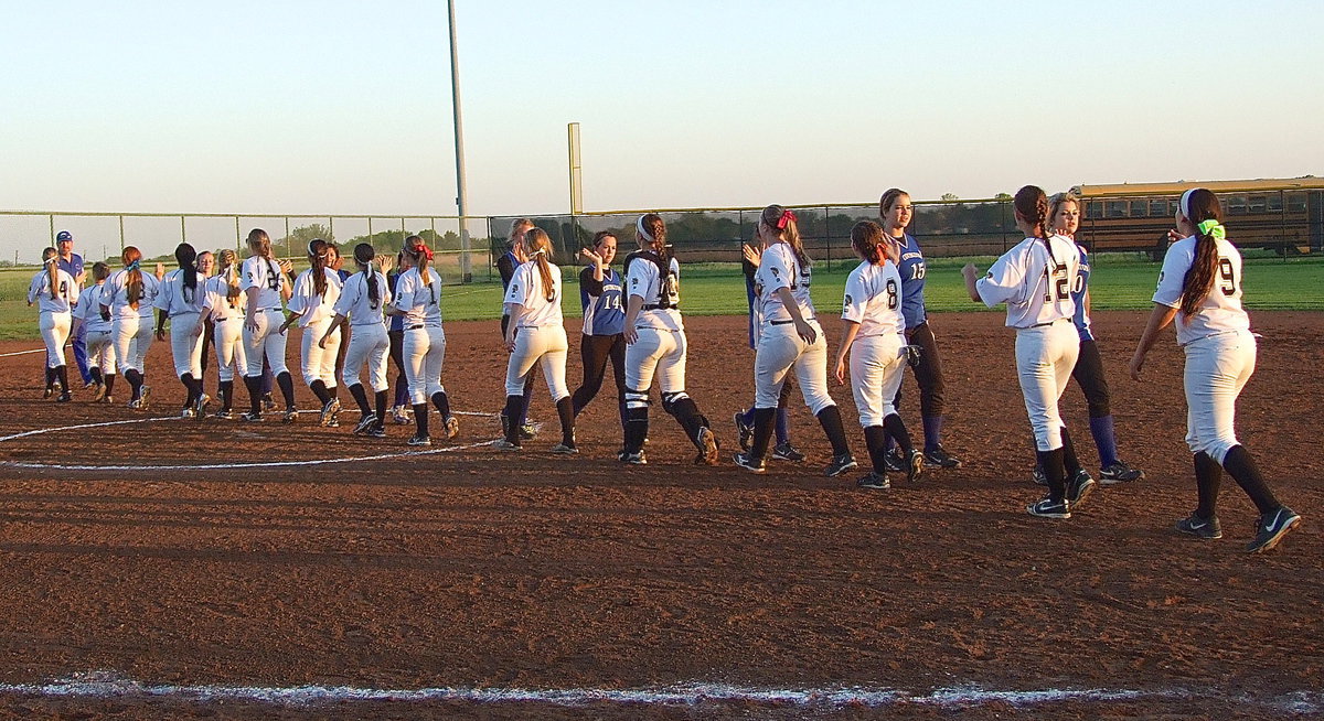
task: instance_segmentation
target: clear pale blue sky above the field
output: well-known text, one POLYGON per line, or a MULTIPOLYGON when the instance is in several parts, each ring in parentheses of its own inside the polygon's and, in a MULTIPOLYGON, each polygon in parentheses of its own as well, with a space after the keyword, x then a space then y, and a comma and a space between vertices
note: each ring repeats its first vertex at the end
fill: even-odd
MULTIPOLYGON (((458 0, 470 212, 1324 175, 1324 3, 458 0)), ((446 4, 0 0, 0 209, 451 214, 446 4)), ((0 247, 0 253, 4 249, 0 247)))

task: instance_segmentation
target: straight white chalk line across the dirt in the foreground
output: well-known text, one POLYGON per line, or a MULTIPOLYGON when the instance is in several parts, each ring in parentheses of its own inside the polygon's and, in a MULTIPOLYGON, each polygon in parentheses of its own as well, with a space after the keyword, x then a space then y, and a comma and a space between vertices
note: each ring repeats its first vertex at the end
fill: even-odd
MULTIPOLYGON (((692 706, 704 702, 755 702, 763 705, 796 705, 817 708, 892 706, 918 704, 932 706, 972 706, 1005 702, 1033 706, 1062 701, 1140 701, 1160 699, 1222 699, 1225 692, 1211 691, 1129 691, 1129 689, 1039 689, 998 691, 978 687, 941 688, 928 693, 910 693, 888 688, 759 688, 728 684, 686 683, 669 687, 610 688, 473 688, 430 687, 417 689, 376 689, 357 687, 242 687, 242 685, 171 685, 144 684, 117 673, 94 672, 81 677, 44 684, 0 684, 0 693, 75 699, 146 699, 169 697, 185 701, 258 701, 266 704, 307 705, 340 701, 467 701, 475 704, 535 702, 559 706, 589 704, 629 704, 692 706)), ((1238 701, 1279 708, 1292 713, 1315 713, 1324 709, 1320 692, 1295 692, 1274 699, 1237 699, 1238 701)))

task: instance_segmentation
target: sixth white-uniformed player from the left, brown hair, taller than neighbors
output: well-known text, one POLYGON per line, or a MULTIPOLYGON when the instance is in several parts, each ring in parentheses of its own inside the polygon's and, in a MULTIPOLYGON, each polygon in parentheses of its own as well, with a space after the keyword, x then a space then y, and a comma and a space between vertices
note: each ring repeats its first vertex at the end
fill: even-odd
POLYGON ((248 372, 244 385, 249 392, 249 411, 241 421, 262 421, 262 361, 271 368, 285 397, 285 422, 299 418, 294 406, 294 380, 285 364, 285 333, 281 332, 281 302, 290 298, 290 279, 271 255, 271 238, 254 228, 248 237, 249 258, 240 271, 240 287, 248 295, 244 315, 244 360, 248 372))

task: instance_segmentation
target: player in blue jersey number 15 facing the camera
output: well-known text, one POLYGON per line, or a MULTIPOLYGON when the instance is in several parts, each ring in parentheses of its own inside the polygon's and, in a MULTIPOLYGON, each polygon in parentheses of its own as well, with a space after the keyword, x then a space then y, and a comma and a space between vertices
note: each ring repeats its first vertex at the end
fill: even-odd
MULTIPOLYGON (((906 340, 919 347, 919 365, 915 366, 915 382, 919 385, 920 421, 924 426, 924 460, 939 468, 960 468, 961 460, 943 448, 941 433, 947 403, 943 398, 943 362, 937 356, 937 336, 928 323, 924 308, 924 276, 928 265, 924 251, 915 238, 906 233, 914 217, 910 193, 899 188, 888 188, 878 201, 883 232, 895 238, 902 247, 902 315, 906 316, 906 340)), ((896 405, 900 406, 900 389, 896 405)), ((892 470, 906 468, 906 459, 895 459, 892 470)))

